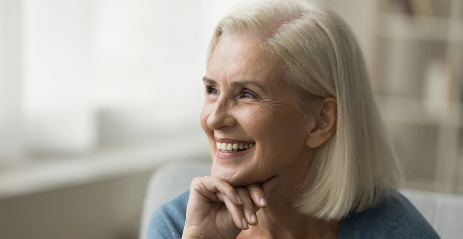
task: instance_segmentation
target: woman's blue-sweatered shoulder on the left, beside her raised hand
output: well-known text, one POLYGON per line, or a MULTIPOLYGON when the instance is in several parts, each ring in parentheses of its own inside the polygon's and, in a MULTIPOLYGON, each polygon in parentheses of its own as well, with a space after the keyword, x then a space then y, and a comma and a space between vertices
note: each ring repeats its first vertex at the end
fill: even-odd
POLYGON ((190 190, 187 190, 156 209, 149 221, 146 237, 148 239, 182 238, 189 196, 190 190))

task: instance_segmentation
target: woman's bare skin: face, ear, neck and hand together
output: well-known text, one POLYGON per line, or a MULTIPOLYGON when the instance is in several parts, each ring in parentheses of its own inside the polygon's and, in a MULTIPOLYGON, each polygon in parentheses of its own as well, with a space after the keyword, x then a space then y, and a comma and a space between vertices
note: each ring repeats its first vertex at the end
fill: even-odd
POLYGON ((302 215, 291 204, 314 148, 336 129, 336 98, 321 100, 304 117, 280 69, 255 38, 232 35, 218 42, 201 113, 213 166, 210 177, 191 184, 184 238, 337 238, 338 221, 302 215), (216 146, 224 138, 255 146, 224 158, 216 146))

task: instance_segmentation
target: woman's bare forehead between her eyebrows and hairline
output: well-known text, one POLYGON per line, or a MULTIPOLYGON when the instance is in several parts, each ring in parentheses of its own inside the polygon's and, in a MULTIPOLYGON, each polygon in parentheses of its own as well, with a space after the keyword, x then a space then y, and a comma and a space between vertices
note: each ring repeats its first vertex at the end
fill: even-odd
POLYGON ((251 37, 227 36, 217 43, 212 54, 208 76, 213 79, 253 79, 276 81, 281 78, 278 62, 251 37))

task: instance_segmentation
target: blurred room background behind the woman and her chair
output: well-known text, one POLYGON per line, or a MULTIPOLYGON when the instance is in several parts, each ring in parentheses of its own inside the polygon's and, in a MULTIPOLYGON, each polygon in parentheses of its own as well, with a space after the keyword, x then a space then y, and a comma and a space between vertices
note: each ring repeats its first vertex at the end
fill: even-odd
MULTIPOLYGON (((206 49, 244 0, 0 0, 0 238, 134 239, 148 179, 210 161, 206 49)), ((463 0, 326 0, 406 187, 463 194, 463 0)))

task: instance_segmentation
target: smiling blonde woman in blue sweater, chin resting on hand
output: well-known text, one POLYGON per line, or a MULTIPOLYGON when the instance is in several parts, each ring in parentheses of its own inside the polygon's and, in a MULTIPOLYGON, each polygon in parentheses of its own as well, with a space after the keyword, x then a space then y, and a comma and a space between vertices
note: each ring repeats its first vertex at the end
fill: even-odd
POLYGON ((233 8, 203 82, 211 176, 161 206, 148 238, 439 238, 397 192, 402 171, 361 49, 327 7, 233 8))

